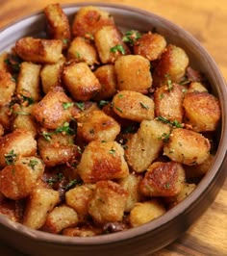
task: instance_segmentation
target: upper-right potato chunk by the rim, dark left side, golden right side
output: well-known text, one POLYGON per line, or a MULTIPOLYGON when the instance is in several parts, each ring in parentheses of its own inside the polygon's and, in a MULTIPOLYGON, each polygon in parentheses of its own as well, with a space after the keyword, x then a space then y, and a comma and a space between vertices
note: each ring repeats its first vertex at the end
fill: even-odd
POLYGON ((186 52, 173 44, 168 44, 153 71, 153 85, 161 87, 171 81, 178 83, 182 80, 189 65, 186 52))

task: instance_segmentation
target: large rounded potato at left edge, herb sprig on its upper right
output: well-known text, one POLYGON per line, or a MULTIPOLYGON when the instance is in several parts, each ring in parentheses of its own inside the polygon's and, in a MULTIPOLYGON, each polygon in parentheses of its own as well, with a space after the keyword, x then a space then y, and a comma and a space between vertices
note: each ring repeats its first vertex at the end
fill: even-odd
POLYGON ((37 157, 23 157, 0 172, 0 192, 18 200, 27 197, 42 175, 44 166, 37 157))

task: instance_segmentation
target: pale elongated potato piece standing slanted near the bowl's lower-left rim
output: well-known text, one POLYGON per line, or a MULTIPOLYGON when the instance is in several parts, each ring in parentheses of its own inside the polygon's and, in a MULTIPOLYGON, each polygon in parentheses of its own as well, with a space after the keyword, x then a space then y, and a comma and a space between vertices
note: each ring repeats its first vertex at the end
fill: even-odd
POLYGON ((34 229, 41 228, 48 213, 59 203, 59 200, 59 192, 52 189, 36 188, 28 198, 23 224, 34 229))

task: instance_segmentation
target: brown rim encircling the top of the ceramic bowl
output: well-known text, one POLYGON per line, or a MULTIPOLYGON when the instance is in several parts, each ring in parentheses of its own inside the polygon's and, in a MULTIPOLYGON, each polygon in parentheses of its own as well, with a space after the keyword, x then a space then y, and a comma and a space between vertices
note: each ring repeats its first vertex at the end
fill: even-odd
MULTIPOLYGON (((204 196, 206 193, 206 189, 211 186, 212 181, 215 177, 219 175, 220 172, 220 166, 223 163, 224 159, 226 158, 226 150, 227 150, 227 122, 226 117, 224 115, 224 110, 227 112, 227 89, 226 89, 226 83, 221 75, 221 72, 219 68, 217 67, 217 64, 214 61, 214 58, 211 56, 211 54, 205 49, 205 47, 196 39, 193 38, 189 32, 187 32, 185 29, 183 29, 181 26, 179 26, 176 23, 173 23, 172 21, 166 19, 164 16, 156 13, 152 13, 149 11, 145 11, 143 9, 139 9, 137 7, 131 7, 128 5, 123 4, 114 4, 114 3, 103 3, 103 2, 83 2, 83 3, 74 3, 74 4, 61 4, 63 7, 63 10, 71 9, 71 8, 81 8, 85 6, 95 6, 100 8, 110 8, 114 10, 121 10, 124 12, 130 12, 130 13, 139 13, 139 15, 146 15, 148 18, 158 18, 165 24, 167 23, 168 26, 180 30, 181 33, 183 33, 184 36, 189 38, 190 42, 193 43, 196 47, 199 48, 201 53, 205 55, 210 64, 214 68, 214 74, 216 76, 216 79, 219 82, 219 87, 216 88, 218 95, 221 95, 223 97, 223 100, 220 101, 220 107, 221 107, 221 119, 222 119, 222 125, 221 125, 221 136, 220 136, 220 142, 215 154, 215 161, 211 168, 211 171, 209 171, 205 177, 200 181, 198 184, 196 190, 194 192, 191 192, 189 196, 184 199, 181 203, 176 205, 174 208, 167 211, 167 213, 164 214, 164 216, 160 218, 156 218, 148 223, 145 223, 139 227, 134 227, 132 229, 117 232, 114 234, 106 234, 106 235, 100 235, 95 237, 88 237, 88 238, 77 238, 77 237, 65 237, 63 235, 55 235, 46 233, 43 231, 35 230, 32 228, 29 228, 23 224, 13 222, 9 218, 6 218, 4 216, 0 216, 0 223, 7 226, 10 229, 13 229, 15 232, 19 232, 25 236, 28 236, 34 240, 38 240, 44 243, 61 243, 64 245, 76 245, 76 244, 82 244, 82 245, 95 245, 95 244, 106 244, 106 243, 116 243, 119 240, 125 241, 130 240, 134 237, 139 237, 144 235, 145 233, 148 233, 150 231, 156 231, 160 228, 163 228, 164 225, 166 225, 168 222, 173 220, 174 218, 177 218, 179 215, 182 215, 184 212, 187 211, 189 206, 196 203, 198 198, 200 196, 204 196)), ((28 19, 32 16, 38 16, 40 14, 43 14, 42 11, 33 12, 28 15, 24 15, 20 18, 17 18, 13 20, 12 22, 8 23, 7 25, 3 26, 3 28, 0 29, 0 35, 5 30, 10 29, 13 25, 15 25, 18 22, 22 22, 23 20, 28 19)), ((223 181, 224 182, 224 181, 223 181)))

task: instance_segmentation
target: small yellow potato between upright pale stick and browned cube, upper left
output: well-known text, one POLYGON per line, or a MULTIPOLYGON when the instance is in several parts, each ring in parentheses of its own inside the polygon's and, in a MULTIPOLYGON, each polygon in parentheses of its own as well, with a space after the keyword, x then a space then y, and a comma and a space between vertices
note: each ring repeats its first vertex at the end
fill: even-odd
POLYGON ((40 71, 42 90, 46 94, 51 88, 61 86, 63 64, 65 58, 61 58, 56 64, 44 64, 40 71))

